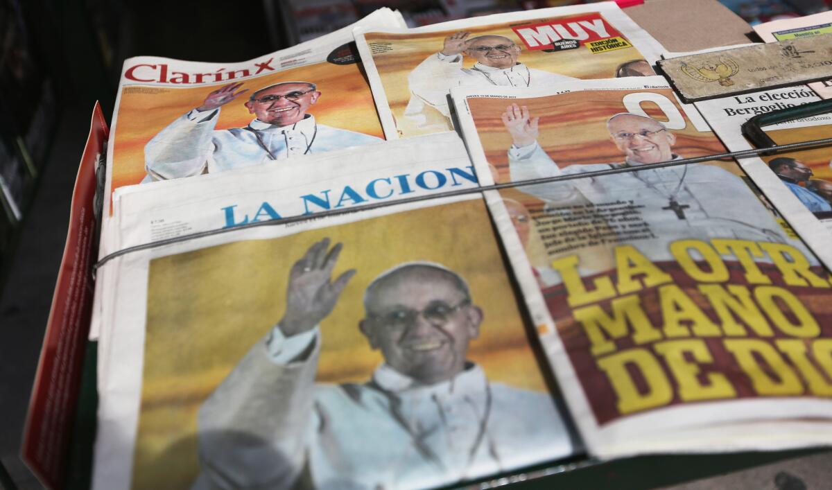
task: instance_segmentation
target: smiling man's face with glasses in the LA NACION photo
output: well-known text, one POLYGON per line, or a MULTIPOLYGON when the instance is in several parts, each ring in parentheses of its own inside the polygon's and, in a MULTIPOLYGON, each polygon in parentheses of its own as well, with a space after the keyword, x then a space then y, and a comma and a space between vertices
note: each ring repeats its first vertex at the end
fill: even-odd
POLYGON ((453 378, 465 367, 482 311, 440 270, 412 268, 377 283, 361 331, 384 361, 421 384, 453 378))

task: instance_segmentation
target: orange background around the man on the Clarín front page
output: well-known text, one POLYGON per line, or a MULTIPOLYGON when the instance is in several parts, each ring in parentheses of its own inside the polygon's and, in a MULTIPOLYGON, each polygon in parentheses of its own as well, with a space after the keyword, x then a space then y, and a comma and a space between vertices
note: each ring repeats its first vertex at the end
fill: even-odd
MULTIPOLYGON (((248 89, 248 92, 222 106, 216 129, 243 127, 255 118, 244 106, 252 92, 275 83, 302 81, 317 84, 321 92, 310 108, 310 114, 320 124, 384 138, 373 95, 362 70, 358 63, 320 62, 245 79, 240 90, 248 89)), ((200 106, 210 92, 225 85, 227 82, 204 87, 123 87, 115 128, 111 190, 141 182, 146 176, 144 148, 147 141, 177 117, 200 106)))

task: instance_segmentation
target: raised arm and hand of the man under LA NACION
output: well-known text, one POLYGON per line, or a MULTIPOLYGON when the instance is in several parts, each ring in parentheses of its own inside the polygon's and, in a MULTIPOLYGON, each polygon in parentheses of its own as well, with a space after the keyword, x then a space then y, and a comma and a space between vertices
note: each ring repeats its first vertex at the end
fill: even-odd
POLYGON ((330 280, 340 250, 326 238, 295 262, 283 317, 202 403, 197 488, 291 488, 299 477, 314 418, 317 325, 355 274, 330 280))

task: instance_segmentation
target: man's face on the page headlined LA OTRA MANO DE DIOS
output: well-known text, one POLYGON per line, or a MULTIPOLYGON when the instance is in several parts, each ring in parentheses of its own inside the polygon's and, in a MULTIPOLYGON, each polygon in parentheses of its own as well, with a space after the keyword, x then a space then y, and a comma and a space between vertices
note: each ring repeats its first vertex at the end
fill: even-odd
POLYGON ((673 160, 676 135, 656 121, 639 116, 618 116, 609 124, 610 137, 631 164, 673 160))

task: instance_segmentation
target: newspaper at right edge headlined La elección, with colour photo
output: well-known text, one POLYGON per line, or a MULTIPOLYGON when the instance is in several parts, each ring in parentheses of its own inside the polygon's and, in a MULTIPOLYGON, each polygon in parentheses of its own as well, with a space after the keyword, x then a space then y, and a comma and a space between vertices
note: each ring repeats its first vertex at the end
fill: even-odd
MULTIPOLYGON (((751 117, 820 100, 809 87, 800 85, 696 102, 696 107, 731 151, 741 151, 753 147, 741 132, 751 117)), ((764 130, 777 144, 819 140, 832 135, 832 114, 782 122, 764 130)), ((740 164, 784 215, 804 216, 805 222, 792 225, 805 240, 828 248, 832 240, 832 146, 743 158, 740 164), (809 210, 816 219, 800 210, 809 210)))

